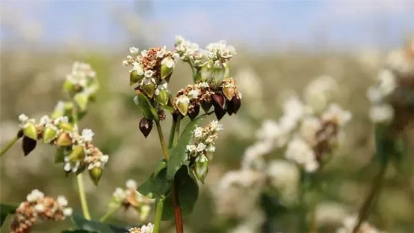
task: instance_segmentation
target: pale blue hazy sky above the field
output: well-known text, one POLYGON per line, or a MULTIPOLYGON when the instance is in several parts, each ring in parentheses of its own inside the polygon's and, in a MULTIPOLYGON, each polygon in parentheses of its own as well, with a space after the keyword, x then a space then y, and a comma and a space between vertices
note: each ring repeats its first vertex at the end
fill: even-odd
POLYGON ((128 33, 122 20, 137 9, 141 21, 130 19, 130 30, 154 44, 172 44, 174 35, 183 35, 200 44, 226 39, 265 50, 288 44, 389 48, 414 32, 413 0, 1 0, 0 7, 1 44, 34 31, 46 47, 72 40, 124 46, 128 33))

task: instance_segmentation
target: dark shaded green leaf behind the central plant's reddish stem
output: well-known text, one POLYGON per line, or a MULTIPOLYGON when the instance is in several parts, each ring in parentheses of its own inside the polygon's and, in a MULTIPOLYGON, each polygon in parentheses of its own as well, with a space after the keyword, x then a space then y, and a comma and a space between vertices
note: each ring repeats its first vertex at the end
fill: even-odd
MULTIPOLYGON (((181 213, 188 215, 193 212, 194 205, 199 196, 199 187, 197 178, 188 171, 187 166, 182 166, 175 174, 176 187, 178 190, 179 206, 181 213)), ((166 197, 164 201, 164 212, 162 213, 162 220, 170 220, 174 217, 174 205, 172 204, 172 194, 166 197)))

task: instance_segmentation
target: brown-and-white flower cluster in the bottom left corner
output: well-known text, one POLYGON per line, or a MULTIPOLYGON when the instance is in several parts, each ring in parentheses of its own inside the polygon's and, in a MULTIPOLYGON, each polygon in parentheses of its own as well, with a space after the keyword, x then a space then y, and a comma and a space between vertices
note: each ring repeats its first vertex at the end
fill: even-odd
POLYGON ((30 232, 37 220, 62 221, 72 215, 72 208, 68 207, 64 196, 58 196, 55 200, 34 189, 26 200, 16 209, 10 229, 12 233, 30 232))

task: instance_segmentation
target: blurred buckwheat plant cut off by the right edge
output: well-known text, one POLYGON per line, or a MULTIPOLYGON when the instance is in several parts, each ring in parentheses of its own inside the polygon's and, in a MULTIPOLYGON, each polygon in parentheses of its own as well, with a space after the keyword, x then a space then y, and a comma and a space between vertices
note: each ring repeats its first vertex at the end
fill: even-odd
POLYGON ((408 41, 404 48, 393 50, 388 55, 384 68, 378 74, 377 83, 368 88, 367 96, 371 102, 369 118, 375 125, 375 162, 380 167, 359 210, 353 233, 364 227, 362 223, 373 209, 375 198, 380 195, 390 162, 393 162, 404 180, 408 195, 414 197, 408 181, 411 161, 406 150, 409 143, 406 131, 414 122, 414 39, 408 41))

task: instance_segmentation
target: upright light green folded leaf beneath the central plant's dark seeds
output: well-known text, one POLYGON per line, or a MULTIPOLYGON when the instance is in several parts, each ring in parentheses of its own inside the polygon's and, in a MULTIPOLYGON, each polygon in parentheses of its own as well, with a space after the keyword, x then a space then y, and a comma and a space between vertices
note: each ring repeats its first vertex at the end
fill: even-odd
POLYGON ((178 169, 187 161, 187 145, 193 139, 194 129, 201 124, 204 118, 206 118, 205 114, 190 122, 181 134, 177 145, 171 149, 170 160, 167 165, 167 180, 172 180, 178 169))

